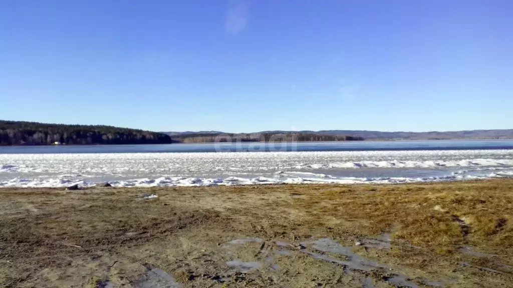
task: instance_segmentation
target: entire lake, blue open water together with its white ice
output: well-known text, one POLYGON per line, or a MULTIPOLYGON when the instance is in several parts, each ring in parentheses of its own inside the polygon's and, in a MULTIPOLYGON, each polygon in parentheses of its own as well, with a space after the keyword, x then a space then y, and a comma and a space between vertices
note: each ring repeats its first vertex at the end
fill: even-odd
POLYGON ((0 187, 403 183, 513 176, 513 141, 0 147, 0 187))

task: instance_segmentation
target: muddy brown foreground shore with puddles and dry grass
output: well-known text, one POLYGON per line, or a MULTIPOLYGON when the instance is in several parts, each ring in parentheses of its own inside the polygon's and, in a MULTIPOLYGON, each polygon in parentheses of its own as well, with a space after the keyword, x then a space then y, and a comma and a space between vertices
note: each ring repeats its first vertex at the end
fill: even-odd
POLYGON ((0 189, 0 286, 513 287, 512 221, 504 179, 0 189))

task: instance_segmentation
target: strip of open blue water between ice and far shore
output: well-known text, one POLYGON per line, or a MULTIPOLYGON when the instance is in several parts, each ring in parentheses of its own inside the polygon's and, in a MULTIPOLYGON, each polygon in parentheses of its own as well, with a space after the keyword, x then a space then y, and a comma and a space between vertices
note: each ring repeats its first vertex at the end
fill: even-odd
POLYGON ((399 151, 513 149, 513 140, 238 142, 166 145, 11 146, 0 154, 277 152, 277 151, 399 151))

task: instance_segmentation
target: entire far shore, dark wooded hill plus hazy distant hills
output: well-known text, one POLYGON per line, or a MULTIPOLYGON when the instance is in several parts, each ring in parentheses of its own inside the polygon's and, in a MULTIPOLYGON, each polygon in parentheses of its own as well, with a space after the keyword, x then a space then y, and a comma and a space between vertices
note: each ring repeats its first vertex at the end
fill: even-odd
POLYGON ((508 140, 509 130, 380 132, 364 130, 261 131, 255 133, 152 132, 105 125, 48 124, 0 120, 0 146, 148 145, 217 142, 332 142, 508 140))

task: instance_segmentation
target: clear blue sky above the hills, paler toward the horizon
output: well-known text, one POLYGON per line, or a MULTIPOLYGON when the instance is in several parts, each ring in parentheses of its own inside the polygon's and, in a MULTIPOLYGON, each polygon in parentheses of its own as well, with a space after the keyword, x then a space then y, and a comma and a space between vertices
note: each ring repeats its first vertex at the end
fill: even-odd
POLYGON ((0 0, 0 119, 513 128, 511 0, 0 0))

